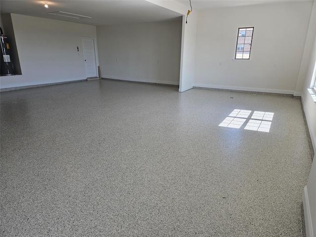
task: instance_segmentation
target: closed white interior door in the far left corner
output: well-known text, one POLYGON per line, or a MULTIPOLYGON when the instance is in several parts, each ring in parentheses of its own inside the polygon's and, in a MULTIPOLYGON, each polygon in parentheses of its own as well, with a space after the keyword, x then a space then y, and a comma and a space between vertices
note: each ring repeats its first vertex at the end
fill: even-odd
POLYGON ((83 58, 85 76, 87 78, 97 77, 97 66, 95 61, 94 39, 82 38, 83 58))

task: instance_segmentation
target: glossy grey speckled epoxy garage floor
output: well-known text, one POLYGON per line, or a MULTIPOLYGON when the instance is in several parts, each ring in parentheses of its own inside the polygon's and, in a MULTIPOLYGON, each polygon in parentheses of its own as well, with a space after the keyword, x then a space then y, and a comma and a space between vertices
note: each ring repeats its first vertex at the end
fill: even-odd
POLYGON ((302 236, 300 100, 177 89, 1 92, 1 235, 302 236), (274 113, 270 131, 218 126, 235 109, 274 113))

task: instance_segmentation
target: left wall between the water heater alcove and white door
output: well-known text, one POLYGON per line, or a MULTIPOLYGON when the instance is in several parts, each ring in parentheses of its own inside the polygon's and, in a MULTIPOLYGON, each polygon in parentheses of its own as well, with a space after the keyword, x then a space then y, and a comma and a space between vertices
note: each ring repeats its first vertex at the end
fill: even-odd
POLYGON ((22 75, 1 77, 0 88, 86 79, 81 37, 96 38, 95 26, 18 14, 11 19, 22 75))

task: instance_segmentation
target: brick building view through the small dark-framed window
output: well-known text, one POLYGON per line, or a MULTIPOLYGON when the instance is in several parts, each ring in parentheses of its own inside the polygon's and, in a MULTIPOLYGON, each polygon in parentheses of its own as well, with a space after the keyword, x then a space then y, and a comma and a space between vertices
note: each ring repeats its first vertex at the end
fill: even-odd
POLYGON ((249 59, 253 27, 238 28, 235 59, 249 59))

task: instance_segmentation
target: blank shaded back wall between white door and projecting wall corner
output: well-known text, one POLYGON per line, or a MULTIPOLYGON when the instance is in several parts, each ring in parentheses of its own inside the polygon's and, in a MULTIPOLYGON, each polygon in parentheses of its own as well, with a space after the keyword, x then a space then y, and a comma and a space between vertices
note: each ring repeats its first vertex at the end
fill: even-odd
POLYGON ((179 84, 182 21, 98 26, 102 78, 179 84))

